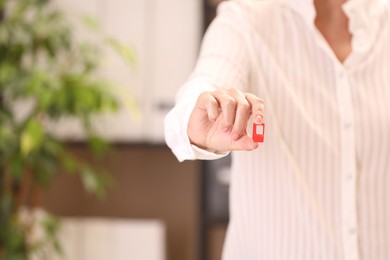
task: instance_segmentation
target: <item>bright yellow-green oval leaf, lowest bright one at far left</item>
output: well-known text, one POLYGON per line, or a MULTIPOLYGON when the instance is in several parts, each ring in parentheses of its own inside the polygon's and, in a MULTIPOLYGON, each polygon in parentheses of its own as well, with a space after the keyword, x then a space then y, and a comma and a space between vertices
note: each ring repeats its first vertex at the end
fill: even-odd
POLYGON ((23 156, 29 155, 32 151, 40 148, 43 142, 42 124, 35 119, 27 122, 20 136, 20 150, 23 156))

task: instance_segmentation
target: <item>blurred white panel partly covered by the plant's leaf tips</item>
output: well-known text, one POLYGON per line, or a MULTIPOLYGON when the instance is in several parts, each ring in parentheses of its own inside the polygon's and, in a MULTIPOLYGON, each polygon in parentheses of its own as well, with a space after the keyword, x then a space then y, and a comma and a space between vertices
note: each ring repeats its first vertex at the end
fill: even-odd
POLYGON ((119 87, 118 96, 124 103, 116 115, 102 118, 99 127, 102 133, 113 141, 146 141, 144 135, 145 120, 148 115, 146 102, 148 93, 148 10, 146 1, 140 0, 106 0, 103 29, 110 37, 121 43, 132 46, 137 56, 137 64, 131 68, 122 57, 107 48, 108 55, 104 62, 102 74, 114 81, 119 87), (126 103, 135 97, 140 117, 131 117, 126 103))

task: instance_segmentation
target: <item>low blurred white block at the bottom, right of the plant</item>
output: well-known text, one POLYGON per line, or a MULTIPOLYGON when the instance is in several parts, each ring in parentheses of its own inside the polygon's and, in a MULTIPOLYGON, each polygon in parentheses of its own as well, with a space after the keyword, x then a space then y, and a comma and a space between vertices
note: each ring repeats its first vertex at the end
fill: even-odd
POLYGON ((165 226, 158 220, 63 218, 64 256, 53 260, 165 260, 165 226))

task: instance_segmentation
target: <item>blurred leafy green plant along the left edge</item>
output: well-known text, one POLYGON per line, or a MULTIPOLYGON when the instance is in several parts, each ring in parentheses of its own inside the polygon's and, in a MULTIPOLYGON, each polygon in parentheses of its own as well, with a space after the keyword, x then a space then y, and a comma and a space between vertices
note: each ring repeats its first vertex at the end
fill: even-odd
MULTIPOLYGON (((98 28, 92 19, 84 23, 98 28)), ((100 36, 134 63, 131 48, 100 36)), ((97 45, 76 41, 69 21, 49 0, 0 0, 0 259, 30 259, 47 243, 60 251, 55 217, 42 221, 45 243, 32 241, 34 223, 20 217, 21 209, 39 206, 37 194, 59 172, 79 174, 85 189, 98 196, 112 183, 47 128, 77 119, 90 151, 105 150, 92 119, 116 111, 118 100, 107 88, 112 84, 97 76, 100 60, 97 45), (27 113, 18 115, 15 104, 28 104, 27 113)))

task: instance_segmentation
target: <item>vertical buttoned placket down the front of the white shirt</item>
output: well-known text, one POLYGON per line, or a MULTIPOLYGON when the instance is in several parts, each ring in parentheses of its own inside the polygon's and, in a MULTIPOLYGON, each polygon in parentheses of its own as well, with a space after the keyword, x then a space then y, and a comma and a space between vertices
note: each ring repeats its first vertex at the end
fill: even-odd
POLYGON ((337 72, 337 98, 340 111, 341 148, 341 217, 344 260, 359 260, 357 201, 356 201, 356 156, 355 124, 351 86, 348 72, 337 72))

